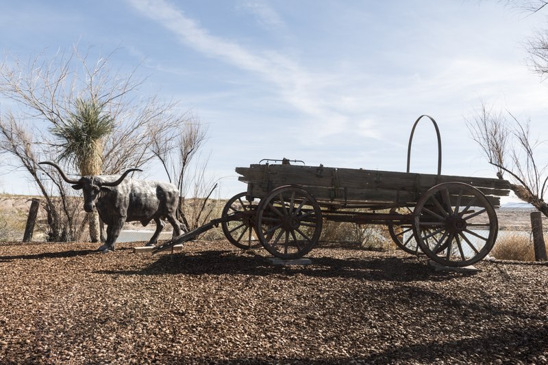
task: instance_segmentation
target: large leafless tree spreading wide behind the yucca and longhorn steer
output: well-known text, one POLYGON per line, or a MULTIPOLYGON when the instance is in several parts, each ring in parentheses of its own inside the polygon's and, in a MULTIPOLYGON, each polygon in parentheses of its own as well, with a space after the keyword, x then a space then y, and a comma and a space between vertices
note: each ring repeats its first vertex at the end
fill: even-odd
MULTIPOLYGON (((168 143, 186 120, 186 113, 177 111, 176 102, 136 96, 145 80, 137 77, 136 69, 112 71, 114 53, 92 60, 91 50, 82 53, 75 46, 69 53, 58 52, 52 57, 42 53, 26 63, 7 57, 0 64, 0 95, 16 105, 3 110, 0 152, 8 154, 16 167, 23 167, 45 197, 57 195, 65 203, 69 201, 66 187, 46 169, 45 176, 51 178, 47 187, 38 174, 42 167, 36 163, 52 157, 58 161, 55 157, 61 155, 63 141, 55 139, 51 131, 70 124, 78 100, 94 100, 114 120, 114 128, 101 142, 103 174, 147 165, 157 157, 152 146, 168 143)), ((75 162, 68 161, 67 170, 78 168, 75 162)), ((75 230, 68 214, 60 213, 54 204, 47 204, 47 209, 52 222, 64 219, 67 229, 75 230)), ((51 239, 60 240, 62 234, 55 231, 51 239)))

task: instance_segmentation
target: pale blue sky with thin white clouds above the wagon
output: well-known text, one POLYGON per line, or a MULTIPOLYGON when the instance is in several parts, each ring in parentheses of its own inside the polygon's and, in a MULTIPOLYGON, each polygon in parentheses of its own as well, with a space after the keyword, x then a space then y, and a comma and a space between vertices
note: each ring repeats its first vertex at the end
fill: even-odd
MULTIPOLYGON (((27 59, 78 43, 103 53, 120 48, 116 66, 141 64, 143 95, 181 100, 208 124, 208 172, 221 178, 225 197, 245 190, 234 168, 264 158, 403 172, 422 114, 439 124, 443 174, 493 177, 465 123, 482 100, 531 118, 548 137, 547 85, 527 68, 523 46, 547 18, 499 1, 0 0, 0 7, 3 53, 27 59)), ((412 172, 435 173, 436 153, 425 120, 412 172)), ((10 174, 0 176, 0 191, 34 187, 10 174)))

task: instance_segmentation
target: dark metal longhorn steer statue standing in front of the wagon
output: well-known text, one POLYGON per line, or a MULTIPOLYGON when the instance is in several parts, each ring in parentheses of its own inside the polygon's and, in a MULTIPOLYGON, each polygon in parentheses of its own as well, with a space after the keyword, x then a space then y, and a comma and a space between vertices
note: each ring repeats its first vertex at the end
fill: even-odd
POLYGON ((176 214, 179 191, 173 184, 125 179, 130 172, 142 171, 139 169, 126 170, 122 176, 82 176, 76 180, 66 177, 61 167, 53 162, 45 161, 40 164, 55 167, 63 180, 74 184, 73 189, 82 189, 84 211, 90 213, 97 207, 99 217, 107 225, 106 241, 99 247, 101 252, 114 251, 114 243, 126 221, 140 221, 143 226, 147 226, 151 220, 156 222, 156 230, 147 246, 158 242, 158 236, 164 228, 162 219, 171 223, 174 236, 181 234, 176 214))

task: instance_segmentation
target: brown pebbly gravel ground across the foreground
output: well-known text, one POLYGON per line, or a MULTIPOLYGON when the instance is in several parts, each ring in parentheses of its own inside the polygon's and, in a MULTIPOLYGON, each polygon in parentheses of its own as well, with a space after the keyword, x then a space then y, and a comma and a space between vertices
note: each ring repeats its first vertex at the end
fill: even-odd
POLYGON ((179 254, 0 244, 0 363, 548 364, 548 267, 321 244, 312 265, 190 242, 179 254))

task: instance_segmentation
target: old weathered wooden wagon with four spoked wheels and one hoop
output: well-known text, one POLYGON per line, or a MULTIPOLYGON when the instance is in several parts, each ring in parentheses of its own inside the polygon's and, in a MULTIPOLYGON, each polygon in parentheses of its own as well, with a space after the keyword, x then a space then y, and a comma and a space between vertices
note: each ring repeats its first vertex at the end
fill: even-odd
POLYGON ((278 258, 301 258, 318 243, 323 221, 329 220, 386 225, 398 247, 441 265, 462 267, 482 260, 497 239, 495 208, 510 184, 440 174, 440 135, 428 116, 438 137, 438 174, 409 172, 414 129, 423 117, 412 129, 407 172, 309 166, 286 159, 236 167, 247 191, 228 200, 221 218, 168 245, 221 224, 236 247, 260 243, 278 258))

